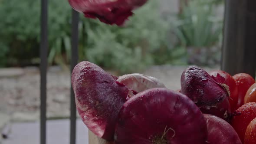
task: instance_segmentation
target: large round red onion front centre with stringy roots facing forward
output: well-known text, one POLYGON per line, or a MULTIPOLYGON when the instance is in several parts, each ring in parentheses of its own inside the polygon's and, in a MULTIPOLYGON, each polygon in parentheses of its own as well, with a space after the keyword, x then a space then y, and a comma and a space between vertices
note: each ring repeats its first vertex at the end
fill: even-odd
POLYGON ((199 108, 186 95, 151 88, 122 106, 115 144, 206 144, 207 125, 199 108))

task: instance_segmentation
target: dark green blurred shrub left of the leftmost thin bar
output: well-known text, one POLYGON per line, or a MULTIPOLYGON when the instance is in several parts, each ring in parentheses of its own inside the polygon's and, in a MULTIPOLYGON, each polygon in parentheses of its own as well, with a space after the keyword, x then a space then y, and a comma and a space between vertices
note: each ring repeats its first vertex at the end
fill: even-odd
POLYGON ((5 65, 10 60, 17 62, 18 60, 14 60, 14 57, 20 62, 25 62, 26 59, 38 56, 35 54, 38 53, 38 43, 35 41, 39 34, 39 20, 36 20, 39 7, 30 7, 35 3, 38 2, 30 0, 30 5, 18 0, 1 0, 0 2, 1 49, 8 49, 8 53, 3 58, 5 65), (33 13, 30 13, 30 10, 33 13))

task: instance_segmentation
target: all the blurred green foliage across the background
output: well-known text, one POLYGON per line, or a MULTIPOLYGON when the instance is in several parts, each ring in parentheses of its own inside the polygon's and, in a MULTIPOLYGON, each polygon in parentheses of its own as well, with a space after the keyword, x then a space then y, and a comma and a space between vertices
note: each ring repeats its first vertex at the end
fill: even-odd
MULTIPOLYGON (((192 3, 171 20, 163 19, 159 1, 149 0, 123 27, 80 14, 79 61, 88 60, 121 73, 154 64, 186 64, 187 46, 210 46, 217 41, 219 22, 211 16, 211 6, 217 0, 208 1, 208 8, 207 4, 192 3), (171 41, 175 36, 177 43, 171 41)), ((72 9, 67 1, 51 0, 48 10, 48 62, 65 66, 71 59, 72 9)), ((0 19, 0 66, 38 64, 40 1, 0 0, 0 19)))

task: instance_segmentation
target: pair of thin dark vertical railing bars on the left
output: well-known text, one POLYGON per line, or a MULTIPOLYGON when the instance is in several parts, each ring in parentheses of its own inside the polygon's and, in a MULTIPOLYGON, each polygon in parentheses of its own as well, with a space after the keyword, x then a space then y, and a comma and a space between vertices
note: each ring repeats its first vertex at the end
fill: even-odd
MULTIPOLYGON (((40 144, 46 144, 46 73, 48 55, 48 0, 41 0, 41 43, 40 43, 40 144)), ((72 10, 72 58, 71 72, 78 62, 79 13, 72 10)), ((70 144, 76 138, 76 107, 72 87, 70 88, 70 144)))

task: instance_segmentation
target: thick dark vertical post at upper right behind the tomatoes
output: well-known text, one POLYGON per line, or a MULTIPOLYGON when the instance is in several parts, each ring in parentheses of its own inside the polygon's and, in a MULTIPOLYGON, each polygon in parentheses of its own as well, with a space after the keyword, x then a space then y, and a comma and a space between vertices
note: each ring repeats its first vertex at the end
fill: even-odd
POLYGON ((231 75, 256 73, 255 0, 226 0, 222 69, 231 75))

